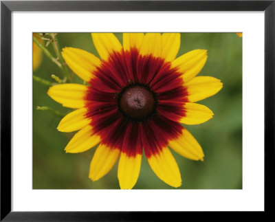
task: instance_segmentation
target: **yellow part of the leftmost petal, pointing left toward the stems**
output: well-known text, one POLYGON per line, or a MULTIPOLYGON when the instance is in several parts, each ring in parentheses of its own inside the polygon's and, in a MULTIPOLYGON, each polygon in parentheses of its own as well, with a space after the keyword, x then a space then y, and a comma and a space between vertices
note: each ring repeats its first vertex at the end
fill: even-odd
POLYGON ((63 104, 63 107, 74 109, 85 106, 86 93, 87 86, 74 83, 54 85, 47 91, 47 94, 56 102, 63 104))

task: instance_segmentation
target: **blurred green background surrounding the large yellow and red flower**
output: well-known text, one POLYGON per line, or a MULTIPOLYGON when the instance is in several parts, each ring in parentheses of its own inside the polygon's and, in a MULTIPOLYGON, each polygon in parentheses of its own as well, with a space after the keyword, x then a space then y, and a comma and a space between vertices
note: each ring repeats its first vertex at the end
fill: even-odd
MULTIPOLYGON (((122 42, 122 34, 115 34, 122 42)), ((78 47, 98 56, 89 33, 59 33, 61 48, 78 47)), ((54 55, 52 45, 47 47, 54 55)), ((208 49, 208 60, 199 76, 214 76, 223 82, 215 96, 199 101, 214 112, 206 123, 185 126, 201 144, 205 158, 196 162, 173 152, 179 165, 183 184, 180 189, 241 189, 242 188, 242 38, 236 33, 182 33, 178 56, 192 49, 208 49)), ((49 58, 43 60, 35 76, 54 82, 55 74, 63 78, 49 58)), ((72 82, 83 83, 74 75, 72 82)), ((89 164, 96 148, 85 153, 65 153, 64 148, 74 133, 56 130, 61 118, 47 106, 68 113, 47 96, 45 85, 33 82, 33 188, 34 189, 119 189, 118 163, 106 176, 92 182, 89 164)), ((173 189, 153 173, 143 156, 140 176, 134 189, 173 189)), ((178 188, 179 189, 179 188, 178 188)))

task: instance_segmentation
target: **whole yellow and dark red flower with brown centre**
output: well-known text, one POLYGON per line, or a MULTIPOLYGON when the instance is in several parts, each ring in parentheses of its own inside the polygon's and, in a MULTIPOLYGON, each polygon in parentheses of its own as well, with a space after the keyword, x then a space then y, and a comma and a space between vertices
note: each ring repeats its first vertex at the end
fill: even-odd
POLYGON ((144 151, 159 179, 181 186, 169 148, 203 160, 201 146, 181 124, 210 120, 212 111, 195 102, 223 87, 217 78, 197 76, 207 51, 195 49, 175 58, 179 33, 124 33, 123 46, 111 33, 91 37, 101 60, 83 49, 65 47, 62 52, 67 65, 89 85, 60 84, 48 91, 56 102, 76 109, 58 125, 62 132, 80 130, 65 151, 80 153, 99 144, 89 178, 100 179, 119 159, 122 189, 135 186, 144 151))

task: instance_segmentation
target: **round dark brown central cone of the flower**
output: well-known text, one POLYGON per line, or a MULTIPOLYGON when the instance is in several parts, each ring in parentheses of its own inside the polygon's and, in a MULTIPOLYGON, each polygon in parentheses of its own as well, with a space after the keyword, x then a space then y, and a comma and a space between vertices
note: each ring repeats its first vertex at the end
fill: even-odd
POLYGON ((125 87, 118 98, 120 111, 131 120, 144 121, 155 113, 155 93, 144 85, 125 87))

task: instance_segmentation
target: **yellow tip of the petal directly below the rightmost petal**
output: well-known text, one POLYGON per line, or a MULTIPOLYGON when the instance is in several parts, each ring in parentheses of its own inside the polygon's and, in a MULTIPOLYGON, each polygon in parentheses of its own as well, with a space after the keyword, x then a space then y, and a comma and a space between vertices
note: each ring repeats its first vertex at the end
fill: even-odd
POLYGON ((184 104, 184 110, 186 111, 185 115, 179 122, 183 124, 201 124, 212 118, 214 113, 202 104, 186 102, 184 104))

